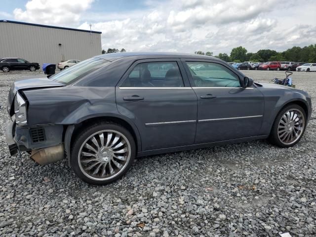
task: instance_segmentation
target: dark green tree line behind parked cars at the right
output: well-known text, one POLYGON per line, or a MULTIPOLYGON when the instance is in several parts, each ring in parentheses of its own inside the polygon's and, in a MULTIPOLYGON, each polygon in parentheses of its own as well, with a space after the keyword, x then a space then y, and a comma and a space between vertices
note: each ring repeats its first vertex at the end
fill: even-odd
MULTIPOLYGON (((196 51, 196 54, 213 56, 213 53, 208 51, 196 51)), ((283 52, 276 52, 271 49, 260 49, 256 53, 248 52, 246 48, 239 46, 233 48, 230 55, 227 53, 219 53, 215 57, 226 62, 269 62, 269 61, 290 61, 290 62, 306 62, 316 63, 316 44, 309 46, 298 47, 294 46, 283 52)))

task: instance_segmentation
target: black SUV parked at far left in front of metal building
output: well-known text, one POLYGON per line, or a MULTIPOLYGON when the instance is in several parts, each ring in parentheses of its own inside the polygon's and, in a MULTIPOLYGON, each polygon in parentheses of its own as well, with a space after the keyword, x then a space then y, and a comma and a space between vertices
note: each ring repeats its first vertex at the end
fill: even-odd
POLYGON ((40 69, 39 63, 31 63, 23 58, 1 58, 0 69, 4 73, 16 70, 30 70, 35 72, 40 69))

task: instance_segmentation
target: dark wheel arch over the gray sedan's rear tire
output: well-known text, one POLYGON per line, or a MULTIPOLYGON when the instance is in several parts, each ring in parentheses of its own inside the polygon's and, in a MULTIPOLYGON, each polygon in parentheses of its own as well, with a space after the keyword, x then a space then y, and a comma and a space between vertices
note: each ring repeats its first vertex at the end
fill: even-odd
POLYGON ((107 115, 107 116, 85 118, 85 119, 80 120, 79 123, 65 125, 65 128, 64 128, 64 143, 65 143, 65 153, 66 153, 65 155, 67 156, 69 166, 71 166, 70 164, 71 147, 73 145, 74 138, 77 136, 77 134, 80 131, 80 128, 92 123, 102 123, 102 122, 113 122, 125 127, 134 138, 134 141, 136 144, 136 154, 137 152, 141 151, 141 137, 140 137, 139 131, 137 127, 135 126, 135 124, 133 124, 131 121, 128 121, 128 118, 121 118, 120 116, 117 116, 117 115, 107 115))

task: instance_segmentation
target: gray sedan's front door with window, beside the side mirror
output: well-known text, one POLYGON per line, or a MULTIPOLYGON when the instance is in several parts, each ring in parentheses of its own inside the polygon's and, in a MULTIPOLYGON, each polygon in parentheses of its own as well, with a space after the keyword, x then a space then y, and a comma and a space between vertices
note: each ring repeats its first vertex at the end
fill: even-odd
POLYGON ((264 97, 256 87, 242 88, 241 78, 229 66, 212 61, 184 61, 197 94, 195 143, 259 135, 264 97), (203 70, 196 70, 202 65, 203 70))

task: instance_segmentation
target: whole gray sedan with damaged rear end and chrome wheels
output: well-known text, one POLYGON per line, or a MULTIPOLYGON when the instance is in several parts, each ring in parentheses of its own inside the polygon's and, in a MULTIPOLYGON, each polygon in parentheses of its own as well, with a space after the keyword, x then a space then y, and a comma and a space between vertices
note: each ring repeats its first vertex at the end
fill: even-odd
POLYGON ((311 117, 309 94, 254 83, 209 56, 114 53, 12 84, 11 155, 66 158, 90 184, 120 178, 134 158, 269 138, 291 147, 311 117))

